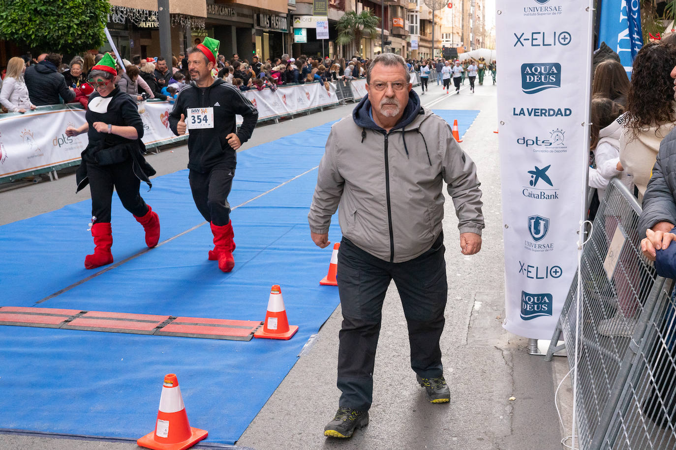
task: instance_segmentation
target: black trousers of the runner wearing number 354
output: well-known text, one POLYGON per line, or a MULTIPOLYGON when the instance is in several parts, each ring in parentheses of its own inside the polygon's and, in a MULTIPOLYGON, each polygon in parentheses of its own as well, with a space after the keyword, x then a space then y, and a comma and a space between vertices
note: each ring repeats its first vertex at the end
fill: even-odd
POLYGON ((190 169, 188 179, 197 210, 208 222, 222 227, 230 221, 228 195, 233 188, 235 169, 215 167, 203 173, 190 169))

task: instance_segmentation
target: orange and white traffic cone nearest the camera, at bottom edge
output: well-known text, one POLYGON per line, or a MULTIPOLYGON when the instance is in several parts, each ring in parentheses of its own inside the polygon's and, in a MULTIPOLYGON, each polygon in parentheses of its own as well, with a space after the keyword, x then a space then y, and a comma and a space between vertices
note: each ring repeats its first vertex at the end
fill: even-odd
POLYGON ((192 428, 188 423, 176 375, 164 376, 155 431, 146 434, 136 443, 155 450, 184 450, 206 438, 207 434, 207 430, 192 428))

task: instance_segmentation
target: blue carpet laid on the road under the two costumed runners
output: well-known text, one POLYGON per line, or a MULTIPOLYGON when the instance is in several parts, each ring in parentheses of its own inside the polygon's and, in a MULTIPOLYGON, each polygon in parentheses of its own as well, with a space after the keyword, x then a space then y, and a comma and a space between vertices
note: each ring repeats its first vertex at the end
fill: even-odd
MULTIPOLYGON (((458 119, 461 135, 479 113, 435 112, 458 119)), ((160 246, 147 252, 141 225, 114 198, 112 251, 130 259, 110 270, 83 266, 89 200, 0 227, 0 306, 260 321, 279 284, 299 326, 290 341, 249 342, 0 326, 0 430, 137 439, 153 430, 164 374, 176 373, 191 425, 209 431, 201 445, 235 443, 339 303, 337 288, 319 285, 332 249, 314 246, 307 223, 330 128, 238 154, 229 274, 207 260, 212 236, 187 171, 141 192, 162 224, 160 246)), ((329 238, 339 242, 337 221, 329 238)))

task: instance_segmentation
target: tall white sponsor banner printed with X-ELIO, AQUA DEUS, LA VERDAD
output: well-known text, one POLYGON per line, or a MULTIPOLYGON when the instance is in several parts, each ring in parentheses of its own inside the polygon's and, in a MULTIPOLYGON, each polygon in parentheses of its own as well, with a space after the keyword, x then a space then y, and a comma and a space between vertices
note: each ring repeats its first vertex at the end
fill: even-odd
POLYGON ((496 0, 503 326, 551 339, 577 271, 588 161, 590 0, 496 0))

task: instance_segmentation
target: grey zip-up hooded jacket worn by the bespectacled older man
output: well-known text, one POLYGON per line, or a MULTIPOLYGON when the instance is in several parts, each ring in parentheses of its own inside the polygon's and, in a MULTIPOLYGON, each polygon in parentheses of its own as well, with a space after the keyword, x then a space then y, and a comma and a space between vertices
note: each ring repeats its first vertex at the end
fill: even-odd
POLYGON ((421 107, 410 91, 402 119, 385 132, 371 119, 366 96, 352 117, 331 128, 308 215, 310 230, 327 233, 340 204, 344 237, 382 260, 411 260, 441 233, 444 181, 460 233, 480 235, 483 203, 476 167, 448 123, 421 107))

